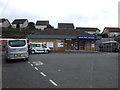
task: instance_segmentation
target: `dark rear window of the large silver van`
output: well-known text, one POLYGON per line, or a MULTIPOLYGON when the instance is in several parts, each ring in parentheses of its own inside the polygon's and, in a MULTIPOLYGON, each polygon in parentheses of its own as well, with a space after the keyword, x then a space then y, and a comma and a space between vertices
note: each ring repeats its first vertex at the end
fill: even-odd
POLYGON ((25 40, 9 40, 8 44, 11 47, 22 47, 25 46, 25 40))

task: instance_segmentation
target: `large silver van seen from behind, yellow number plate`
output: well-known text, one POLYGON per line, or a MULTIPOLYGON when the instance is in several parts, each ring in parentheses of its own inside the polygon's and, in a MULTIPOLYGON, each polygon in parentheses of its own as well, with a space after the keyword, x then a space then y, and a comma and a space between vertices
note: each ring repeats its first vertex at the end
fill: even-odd
POLYGON ((6 43, 6 59, 28 60, 27 39, 8 39, 6 43))

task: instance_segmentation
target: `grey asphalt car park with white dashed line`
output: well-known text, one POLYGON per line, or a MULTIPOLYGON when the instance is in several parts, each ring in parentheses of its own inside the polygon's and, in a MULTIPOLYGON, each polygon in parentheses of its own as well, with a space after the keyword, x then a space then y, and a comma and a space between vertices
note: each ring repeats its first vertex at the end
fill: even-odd
POLYGON ((9 63, 3 58, 2 76, 4 88, 118 88, 118 53, 32 54, 9 63))

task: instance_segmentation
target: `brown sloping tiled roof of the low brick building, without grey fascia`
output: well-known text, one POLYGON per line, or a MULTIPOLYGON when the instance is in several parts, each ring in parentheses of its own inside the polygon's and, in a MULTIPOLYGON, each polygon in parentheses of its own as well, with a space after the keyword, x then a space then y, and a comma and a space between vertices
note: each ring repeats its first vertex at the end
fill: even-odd
POLYGON ((36 34, 39 35, 67 35, 67 36, 93 36, 84 31, 77 29, 47 29, 40 31, 36 34))

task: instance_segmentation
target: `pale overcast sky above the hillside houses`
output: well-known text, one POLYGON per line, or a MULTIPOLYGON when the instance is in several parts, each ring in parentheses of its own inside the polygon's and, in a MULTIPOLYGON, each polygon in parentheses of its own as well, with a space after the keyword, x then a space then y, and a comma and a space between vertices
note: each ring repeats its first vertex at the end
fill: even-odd
POLYGON ((75 27, 118 26, 119 0, 0 0, 0 18, 74 23, 75 27))

